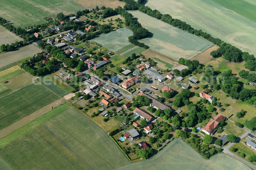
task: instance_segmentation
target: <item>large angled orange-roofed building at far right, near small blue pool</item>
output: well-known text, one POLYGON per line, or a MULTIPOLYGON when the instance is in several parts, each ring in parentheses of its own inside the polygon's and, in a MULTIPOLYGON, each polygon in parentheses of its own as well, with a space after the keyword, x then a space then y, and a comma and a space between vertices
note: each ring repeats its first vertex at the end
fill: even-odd
POLYGON ((226 117, 221 114, 216 115, 213 119, 211 118, 207 125, 202 128, 202 131, 207 135, 213 135, 216 132, 216 127, 218 126, 220 120, 225 120, 226 117))

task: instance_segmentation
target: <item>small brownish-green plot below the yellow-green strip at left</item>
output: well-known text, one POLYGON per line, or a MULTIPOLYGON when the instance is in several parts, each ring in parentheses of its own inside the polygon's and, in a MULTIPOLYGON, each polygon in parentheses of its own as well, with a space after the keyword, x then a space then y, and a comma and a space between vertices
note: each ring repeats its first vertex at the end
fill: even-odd
POLYGON ((15 77, 9 78, 6 81, 8 83, 4 84, 4 82, 1 82, 6 87, 8 87, 11 90, 18 89, 21 86, 24 86, 25 84, 32 81, 32 77, 28 75, 28 73, 22 73, 20 75, 17 75, 15 77))

